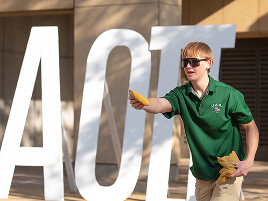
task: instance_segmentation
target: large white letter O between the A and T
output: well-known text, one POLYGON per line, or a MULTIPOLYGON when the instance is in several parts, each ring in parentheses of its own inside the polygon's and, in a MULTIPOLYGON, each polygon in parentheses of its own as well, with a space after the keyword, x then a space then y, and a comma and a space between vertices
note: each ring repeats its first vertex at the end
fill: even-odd
POLYGON ((149 91, 151 53, 144 37, 127 29, 102 33, 94 42, 87 59, 75 163, 77 189, 89 201, 127 199, 134 190, 141 166, 145 112, 134 110, 126 99, 127 113, 117 180, 111 186, 101 186, 96 181, 97 138, 106 64, 116 46, 126 46, 131 53, 129 88, 145 95, 149 91))

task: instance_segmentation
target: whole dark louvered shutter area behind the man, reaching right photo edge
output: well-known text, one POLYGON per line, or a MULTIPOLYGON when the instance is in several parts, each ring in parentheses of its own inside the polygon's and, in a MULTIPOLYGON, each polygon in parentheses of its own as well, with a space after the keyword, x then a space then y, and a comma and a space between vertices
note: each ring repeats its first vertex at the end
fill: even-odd
MULTIPOLYGON (((268 160, 268 48, 223 49, 220 81, 242 92, 260 131, 256 160, 268 160)), ((244 144, 246 132, 241 128, 244 144)))

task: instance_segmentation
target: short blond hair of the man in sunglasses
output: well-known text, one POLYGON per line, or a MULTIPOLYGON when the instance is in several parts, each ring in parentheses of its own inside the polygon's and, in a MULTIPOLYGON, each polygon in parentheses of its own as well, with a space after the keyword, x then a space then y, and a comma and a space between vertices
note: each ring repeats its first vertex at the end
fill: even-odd
MULTIPOLYGON (((181 58, 185 58, 186 56, 199 56, 201 59, 212 60, 213 64, 213 54, 210 46, 208 46, 204 42, 190 42, 186 45, 181 51, 181 58)), ((211 64, 211 66, 212 66, 211 64)), ((210 69, 208 70, 210 73, 210 69)))

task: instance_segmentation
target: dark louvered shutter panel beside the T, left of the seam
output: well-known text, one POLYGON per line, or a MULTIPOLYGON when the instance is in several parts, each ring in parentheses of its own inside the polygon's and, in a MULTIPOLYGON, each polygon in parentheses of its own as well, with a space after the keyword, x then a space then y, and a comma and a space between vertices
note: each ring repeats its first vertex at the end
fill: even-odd
MULTIPOLYGON (((220 81, 244 94, 245 101, 257 122, 257 50, 255 48, 224 49, 221 58, 220 81)), ((246 144, 246 132, 243 128, 241 133, 246 144)))

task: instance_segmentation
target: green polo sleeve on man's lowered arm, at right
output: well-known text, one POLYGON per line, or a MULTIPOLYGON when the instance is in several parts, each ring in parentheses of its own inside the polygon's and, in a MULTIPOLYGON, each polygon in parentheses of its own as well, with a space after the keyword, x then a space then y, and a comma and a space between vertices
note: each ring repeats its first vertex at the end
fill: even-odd
POLYGON ((253 120, 252 114, 247 106, 244 95, 235 91, 232 99, 231 117, 235 118, 240 124, 248 124, 253 120))

